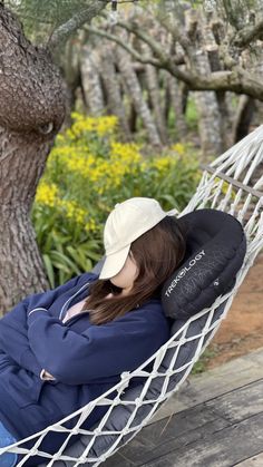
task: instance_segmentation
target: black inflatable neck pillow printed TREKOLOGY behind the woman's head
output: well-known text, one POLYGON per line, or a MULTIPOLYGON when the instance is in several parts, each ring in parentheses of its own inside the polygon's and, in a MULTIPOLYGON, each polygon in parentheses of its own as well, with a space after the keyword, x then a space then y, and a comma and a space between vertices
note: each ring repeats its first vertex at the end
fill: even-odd
POLYGON ((218 210, 196 210, 178 222, 186 235, 186 253, 164 283, 162 302, 167 317, 188 319, 234 286, 246 237, 241 223, 218 210))

